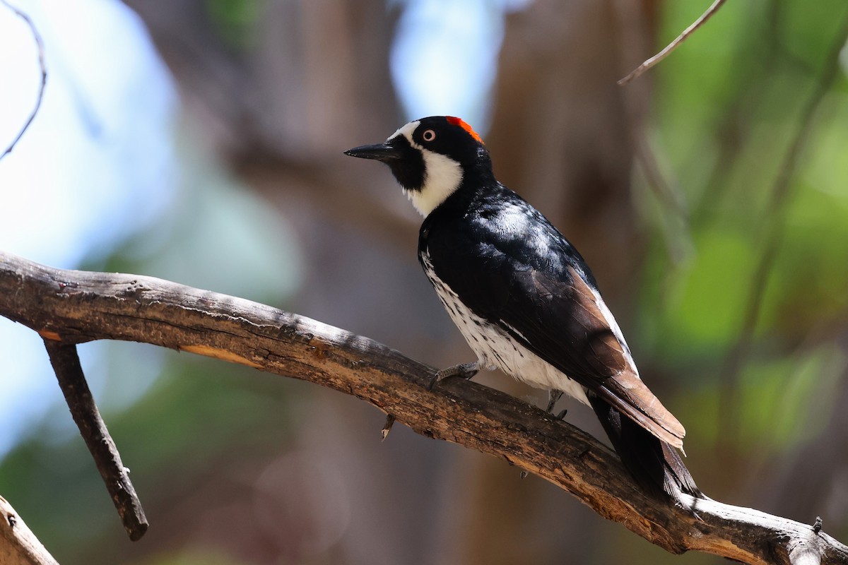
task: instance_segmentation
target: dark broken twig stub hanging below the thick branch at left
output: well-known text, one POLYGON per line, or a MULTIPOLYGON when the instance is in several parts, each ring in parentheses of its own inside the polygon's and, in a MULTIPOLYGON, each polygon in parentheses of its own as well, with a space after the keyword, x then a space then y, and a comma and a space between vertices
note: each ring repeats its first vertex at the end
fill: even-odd
POLYGON ((118 448, 88 390, 76 346, 47 338, 44 346, 47 347, 47 355, 59 379, 64 399, 68 402, 70 415, 80 429, 82 439, 86 440, 88 451, 92 452, 94 463, 112 496, 114 507, 118 509, 124 529, 131 540, 139 540, 148 530, 148 519, 144 517, 142 503, 132 487, 129 469, 121 463, 118 448))

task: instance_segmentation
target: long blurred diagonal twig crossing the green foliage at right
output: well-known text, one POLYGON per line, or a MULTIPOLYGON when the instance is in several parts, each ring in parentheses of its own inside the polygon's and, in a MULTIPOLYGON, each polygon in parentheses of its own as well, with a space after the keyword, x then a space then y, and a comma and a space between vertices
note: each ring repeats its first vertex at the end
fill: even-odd
POLYGON ((806 142, 810 137, 818 107, 821 105, 824 96, 839 73, 840 53, 846 41, 848 41, 848 11, 845 12, 840 30, 831 43, 830 51, 824 64, 824 70, 817 81, 816 88, 812 91, 804 108, 801 110, 798 129, 795 131, 795 136, 792 137, 792 141, 790 141, 789 147, 784 154, 783 161, 780 163, 780 169, 774 180, 771 196, 767 204, 767 210, 763 215, 768 220, 765 245, 762 252, 759 253, 760 260, 756 264, 751 280, 750 295, 746 302, 745 318, 739 329, 739 337, 728 352, 722 370, 722 394, 720 401, 722 413, 734 414, 734 418, 722 418, 721 421, 727 429, 723 430, 725 433, 719 434, 719 437, 734 437, 733 430, 738 429, 738 423, 735 421, 736 412, 729 408, 733 404, 732 396, 736 379, 739 371, 745 364, 745 358, 748 352, 750 352, 750 346, 754 339, 754 330, 756 328, 756 322, 760 318, 768 274, 772 271, 774 259, 777 257, 778 249, 783 241, 787 202, 789 202, 789 181, 792 180, 795 174, 795 169, 801 158, 801 152, 803 152, 806 142))

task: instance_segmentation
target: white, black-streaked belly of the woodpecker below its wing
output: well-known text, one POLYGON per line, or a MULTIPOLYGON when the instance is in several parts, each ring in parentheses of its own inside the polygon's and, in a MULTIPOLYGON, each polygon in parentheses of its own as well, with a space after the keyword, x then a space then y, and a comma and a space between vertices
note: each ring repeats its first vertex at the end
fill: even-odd
POLYGON ((436 289, 439 300, 444 304, 450 319, 454 321, 468 345, 477 354, 480 368, 499 368, 510 377, 527 385, 547 391, 562 391, 583 404, 589 404, 586 388, 569 379, 561 370, 538 357, 535 353, 513 340, 497 325, 480 318, 460 301, 448 285, 436 276, 432 264, 424 257, 425 272, 436 289))

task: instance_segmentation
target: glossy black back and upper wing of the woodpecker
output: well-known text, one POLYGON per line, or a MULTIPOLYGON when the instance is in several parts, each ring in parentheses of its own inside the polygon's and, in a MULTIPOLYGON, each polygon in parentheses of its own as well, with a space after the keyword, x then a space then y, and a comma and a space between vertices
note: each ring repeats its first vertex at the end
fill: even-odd
POLYGON ((418 252, 472 312, 582 385, 597 388, 623 370, 609 347, 614 336, 587 331, 594 320, 575 296, 578 283, 598 291, 589 267, 542 213, 497 181, 460 186, 424 220, 418 252))

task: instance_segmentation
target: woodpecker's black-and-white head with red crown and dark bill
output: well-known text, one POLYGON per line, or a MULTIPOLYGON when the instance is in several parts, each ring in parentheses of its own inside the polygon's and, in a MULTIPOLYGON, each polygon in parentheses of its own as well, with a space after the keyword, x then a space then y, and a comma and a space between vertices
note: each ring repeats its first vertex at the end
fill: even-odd
POLYGON ((425 217, 453 194, 462 180, 473 174, 491 176, 483 140, 470 125, 452 116, 416 119, 385 143, 354 147, 345 154, 388 164, 425 217))

